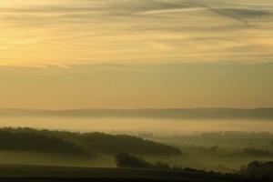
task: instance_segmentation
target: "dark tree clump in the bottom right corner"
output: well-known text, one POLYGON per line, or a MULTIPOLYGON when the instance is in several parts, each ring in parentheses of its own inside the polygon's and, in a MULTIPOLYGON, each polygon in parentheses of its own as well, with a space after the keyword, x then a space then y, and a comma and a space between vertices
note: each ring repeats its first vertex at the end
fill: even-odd
POLYGON ((273 161, 252 161, 248 167, 242 167, 240 174, 244 177, 273 180, 273 161))

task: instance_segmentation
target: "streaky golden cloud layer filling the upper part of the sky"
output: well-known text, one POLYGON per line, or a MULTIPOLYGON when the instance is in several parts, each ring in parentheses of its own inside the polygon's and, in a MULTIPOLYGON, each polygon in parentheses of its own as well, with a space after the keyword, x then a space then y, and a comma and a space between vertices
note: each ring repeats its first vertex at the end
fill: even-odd
POLYGON ((269 0, 5 1, 1 64, 271 62, 272 7, 269 0))

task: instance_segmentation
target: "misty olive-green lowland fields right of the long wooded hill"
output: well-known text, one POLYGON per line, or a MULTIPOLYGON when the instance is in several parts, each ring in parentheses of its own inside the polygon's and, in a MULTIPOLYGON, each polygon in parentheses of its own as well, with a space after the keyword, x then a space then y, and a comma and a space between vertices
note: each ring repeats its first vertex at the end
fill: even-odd
POLYGON ((267 132, 204 132, 152 139, 179 148, 182 155, 168 162, 180 167, 236 173, 251 161, 273 160, 273 135, 267 132))

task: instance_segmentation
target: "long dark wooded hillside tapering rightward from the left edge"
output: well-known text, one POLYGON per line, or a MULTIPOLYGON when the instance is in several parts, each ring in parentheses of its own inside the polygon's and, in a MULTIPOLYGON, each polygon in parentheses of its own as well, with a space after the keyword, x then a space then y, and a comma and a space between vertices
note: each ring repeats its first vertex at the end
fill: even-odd
POLYGON ((181 154, 176 147, 136 136, 11 127, 1 128, 0 132, 0 149, 84 153, 87 156, 121 152, 153 157, 181 154))

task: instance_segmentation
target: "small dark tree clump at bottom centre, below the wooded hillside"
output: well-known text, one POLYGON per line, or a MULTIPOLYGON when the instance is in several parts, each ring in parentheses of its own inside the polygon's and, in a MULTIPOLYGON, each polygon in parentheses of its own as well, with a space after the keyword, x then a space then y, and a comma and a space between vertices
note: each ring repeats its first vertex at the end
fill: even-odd
POLYGON ((157 161, 154 164, 147 162, 142 157, 131 156, 127 153, 119 153, 115 156, 116 167, 138 167, 138 168, 161 168, 170 169, 171 167, 162 161, 157 161))

